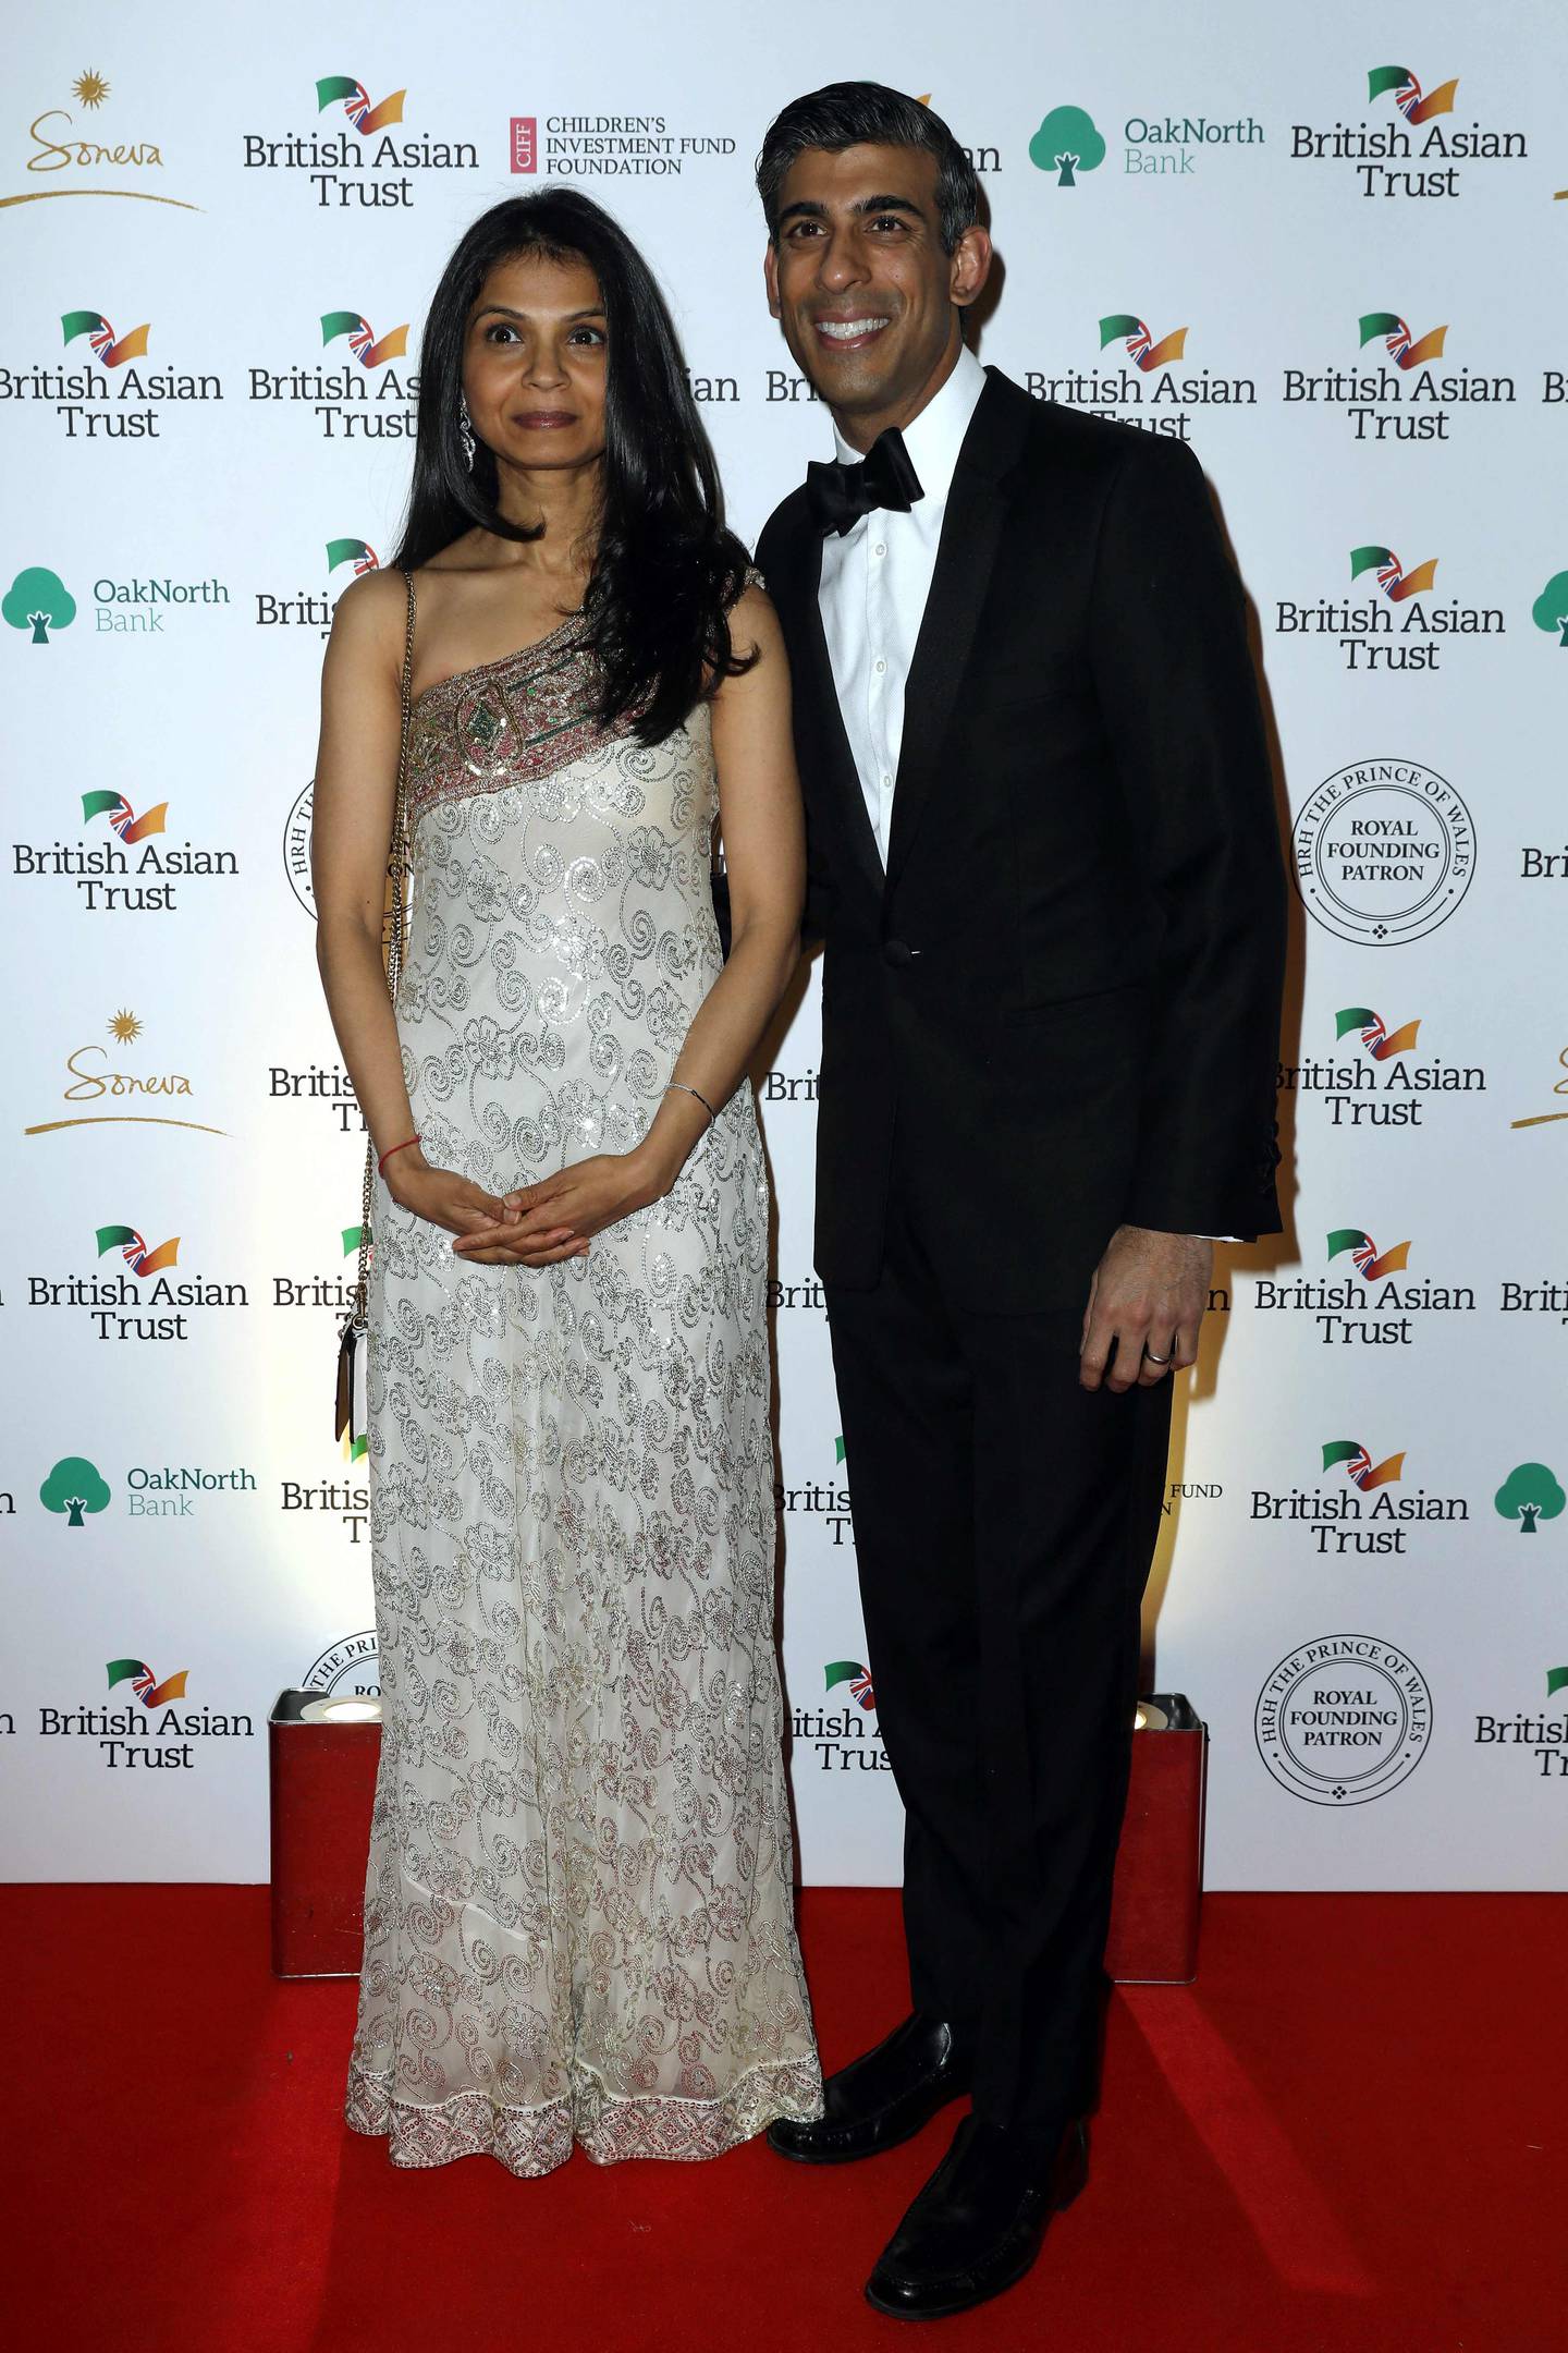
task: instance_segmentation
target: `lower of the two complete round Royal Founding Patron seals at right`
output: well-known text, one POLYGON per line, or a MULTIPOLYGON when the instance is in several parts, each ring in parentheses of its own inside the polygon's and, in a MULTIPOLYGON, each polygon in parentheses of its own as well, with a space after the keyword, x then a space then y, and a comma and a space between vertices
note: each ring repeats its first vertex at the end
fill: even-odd
POLYGON ((1267 1772, 1309 1805, 1368 1805, 1420 1765, 1432 1692, 1415 1661, 1375 1635, 1302 1642, 1269 1673, 1253 1737, 1267 1772))

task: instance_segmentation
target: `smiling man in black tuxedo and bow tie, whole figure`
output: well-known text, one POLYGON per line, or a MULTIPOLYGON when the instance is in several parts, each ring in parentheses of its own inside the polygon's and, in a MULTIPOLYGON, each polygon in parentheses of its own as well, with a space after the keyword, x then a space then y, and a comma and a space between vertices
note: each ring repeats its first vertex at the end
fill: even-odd
POLYGON ((1244 598, 1173 440, 966 351, 973 169, 877 82, 757 162, 769 304, 839 459, 759 565, 823 936, 816 1268, 914 2014, 771 2144, 973 2092, 877 2264, 926 2318, 1084 2179, 1138 1609, 1211 1238, 1279 1228, 1284 878, 1244 598))

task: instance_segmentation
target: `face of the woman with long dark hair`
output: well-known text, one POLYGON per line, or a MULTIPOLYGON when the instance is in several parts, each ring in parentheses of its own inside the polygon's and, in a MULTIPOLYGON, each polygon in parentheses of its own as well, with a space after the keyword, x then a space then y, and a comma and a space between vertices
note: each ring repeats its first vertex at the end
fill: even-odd
POLYGON ((498 464, 538 473, 604 454, 607 329, 585 261, 498 261, 468 313, 463 393, 498 464))

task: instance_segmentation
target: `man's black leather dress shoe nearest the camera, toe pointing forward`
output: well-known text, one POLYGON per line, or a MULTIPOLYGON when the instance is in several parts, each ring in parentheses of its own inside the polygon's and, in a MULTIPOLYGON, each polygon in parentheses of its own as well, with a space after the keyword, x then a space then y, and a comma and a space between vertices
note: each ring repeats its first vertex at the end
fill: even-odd
POLYGON ((896 2320, 945 2320, 999 2297, 1086 2179, 1084 2125, 1051 2144, 966 2115, 865 2282, 867 2301, 896 2320))

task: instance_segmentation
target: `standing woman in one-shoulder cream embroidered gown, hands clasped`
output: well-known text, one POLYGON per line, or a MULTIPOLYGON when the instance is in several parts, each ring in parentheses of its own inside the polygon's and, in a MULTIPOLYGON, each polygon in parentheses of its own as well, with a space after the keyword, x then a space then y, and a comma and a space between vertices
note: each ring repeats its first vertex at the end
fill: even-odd
POLYGON ((576 193, 498 205, 435 294, 397 567, 334 619, 315 889, 381 1162, 348 2122, 397 2165, 719 2155, 820 2113, 743 1075, 799 953, 802 821, 675 332, 576 193))

